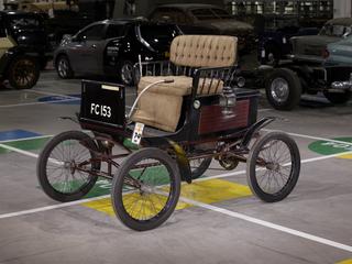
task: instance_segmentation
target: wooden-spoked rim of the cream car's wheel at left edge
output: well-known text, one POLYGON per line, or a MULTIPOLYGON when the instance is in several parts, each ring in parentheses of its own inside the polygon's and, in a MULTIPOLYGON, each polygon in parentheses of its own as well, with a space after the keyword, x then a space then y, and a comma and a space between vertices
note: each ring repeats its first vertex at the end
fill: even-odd
POLYGON ((13 79, 20 87, 29 86, 35 79, 35 65, 30 59, 20 59, 13 67, 13 79))

